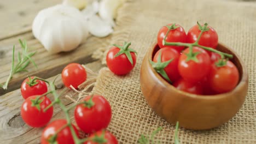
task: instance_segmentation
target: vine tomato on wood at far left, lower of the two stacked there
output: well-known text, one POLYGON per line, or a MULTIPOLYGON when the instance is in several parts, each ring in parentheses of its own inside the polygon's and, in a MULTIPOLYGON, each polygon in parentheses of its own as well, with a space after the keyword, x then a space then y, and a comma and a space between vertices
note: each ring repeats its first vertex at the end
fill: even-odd
POLYGON ((38 100, 38 106, 33 106, 33 101, 36 101, 38 95, 28 97, 21 106, 21 117, 24 122, 31 127, 43 127, 46 125, 53 116, 53 106, 47 111, 43 110, 51 104, 51 101, 47 97, 42 97, 38 100), (40 110, 38 110, 40 109, 40 110))

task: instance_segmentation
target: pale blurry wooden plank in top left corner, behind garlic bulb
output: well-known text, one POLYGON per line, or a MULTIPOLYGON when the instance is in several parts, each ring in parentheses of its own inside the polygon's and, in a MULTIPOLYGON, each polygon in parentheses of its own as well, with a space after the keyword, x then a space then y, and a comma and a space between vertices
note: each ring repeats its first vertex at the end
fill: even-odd
POLYGON ((38 11, 61 3, 62 0, 0 1, 0 40, 31 31, 31 25, 38 11))

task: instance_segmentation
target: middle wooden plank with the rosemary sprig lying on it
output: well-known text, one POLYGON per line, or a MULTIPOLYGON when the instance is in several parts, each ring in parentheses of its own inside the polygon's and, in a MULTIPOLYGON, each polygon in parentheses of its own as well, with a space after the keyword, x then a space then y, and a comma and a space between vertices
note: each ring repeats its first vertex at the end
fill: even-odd
POLYGON ((0 89, 0 95, 19 88, 19 83, 21 83, 28 74, 43 77, 45 79, 61 73, 63 67, 65 67, 65 65, 68 63, 85 63, 95 61, 95 59, 91 58, 92 53, 98 48, 108 46, 108 39, 110 39, 110 36, 106 38, 96 38, 90 36, 88 40, 84 44, 80 45, 77 49, 54 55, 46 51, 39 41, 34 39, 32 33, 26 33, 2 40, 0 41, 0 53, 2 53, 0 54, 0 83, 4 83, 10 73, 13 45, 15 44, 16 52, 21 49, 20 45, 18 44, 19 38, 26 39, 30 50, 32 52, 37 52, 32 58, 37 63, 38 69, 34 68, 32 64, 28 65, 27 70, 30 71, 30 73, 25 72, 14 75, 13 80, 11 80, 9 83, 7 91, 0 89))

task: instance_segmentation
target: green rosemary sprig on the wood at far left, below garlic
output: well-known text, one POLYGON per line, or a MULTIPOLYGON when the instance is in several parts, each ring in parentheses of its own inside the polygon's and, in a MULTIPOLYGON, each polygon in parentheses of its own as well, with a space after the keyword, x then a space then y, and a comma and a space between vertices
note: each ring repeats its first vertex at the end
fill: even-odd
POLYGON ((14 64, 15 45, 13 46, 13 57, 12 57, 13 59, 11 61, 10 74, 8 76, 7 81, 4 83, 4 85, 0 85, 0 87, 2 87, 3 89, 8 88, 8 83, 14 74, 20 73, 22 71, 27 72, 26 68, 27 68, 28 64, 30 64, 30 62, 34 65, 34 67, 37 68, 36 63, 34 63, 33 59, 31 58, 36 52, 30 52, 30 53, 27 52, 26 40, 22 41, 19 39, 19 42, 21 45, 22 53, 18 52, 18 63, 14 64))

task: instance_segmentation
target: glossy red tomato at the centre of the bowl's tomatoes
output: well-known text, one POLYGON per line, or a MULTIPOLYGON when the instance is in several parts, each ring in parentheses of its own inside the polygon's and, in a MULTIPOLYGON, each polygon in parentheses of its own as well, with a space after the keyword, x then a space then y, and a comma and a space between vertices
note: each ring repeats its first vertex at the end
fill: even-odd
POLYGON ((211 68, 211 60, 208 53, 200 47, 194 46, 193 53, 195 52, 199 52, 195 56, 198 62, 191 59, 187 61, 187 55, 189 53, 189 48, 187 48, 183 51, 181 57, 179 57, 178 63, 179 74, 181 74, 183 79, 192 83, 201 81, 211 68))

